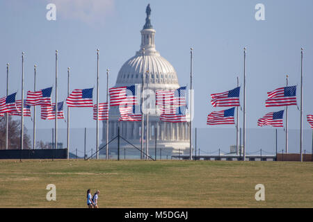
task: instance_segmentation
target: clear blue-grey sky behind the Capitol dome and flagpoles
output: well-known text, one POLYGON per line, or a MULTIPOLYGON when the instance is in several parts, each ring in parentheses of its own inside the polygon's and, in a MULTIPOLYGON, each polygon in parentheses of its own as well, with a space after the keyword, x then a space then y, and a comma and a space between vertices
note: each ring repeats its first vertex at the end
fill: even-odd
MULTIPOLYGON (((96 83, 96 49, 100 49, 100 101, 105 100, 106 68, 113 87, 123 63, 134 56, 141 43, 145 7, 150 3, 156 46, 175 67, 180 85, 189 83, 189 49, 194 49, 193 87, 197 128, 208 127, 213 108, 209 94, 243 83, 243 47, 247 51, 247 127, 257 128, 266 112, 266 92, 285 84, 300 87, 300 48, 304 53, 304 117, 313 113, 313 1, 1 1, 0 95, 6 94, 6 63, 10 62, 9 93, 21 92, 21 53, 25 54, 25 92, 33 89, 33 65, 38 65, 38 89, 54 85, 55 50, 58 60, 58 98, 67 95, 67 67, 71 67, 70 89, 96 83), (88 2, 88 3, 86 3, 88 2), (48 3, 56 3, 56 21, 46 19, 48 3), (265 6, 265 21, 255 19, 255 5, 265 6), (2 67, 2 68, 1 68, 2 67)), ((242 92, 242 91, 241 91, 242 92)), ((298 97, 299 96, 298 90, 298 97)), ((242 95, 242 94, 241 94, 242 95)), ((52 94, 54 98, 54 92, 52 94)), ((94 128, 91 108, 72 109, 73 128, 94 128), (81 118, 83 115, 84 118, 81 118)), ((37 109, 40 115, 40 109, 37 109)), ((289 109, 289 128, 300 127, 296 107, 289 109)), ((52 128, 54 121, 37 118, 38 128, 52 128)), ((242 119, 242 117, 241 117, 242 119)), ((310 127, 303 120, 306 130, 310 127)), ((25 118, 27 128, 31 119, 25 118)), ((66 128, 59 121, 60 128, 66 128)), ((232 127, 231 127, 232 128, 232 127)), ((269 127, 268 127, 269 128, 269 127)), ((270 128, 272 129, 272 128, 270 128)))

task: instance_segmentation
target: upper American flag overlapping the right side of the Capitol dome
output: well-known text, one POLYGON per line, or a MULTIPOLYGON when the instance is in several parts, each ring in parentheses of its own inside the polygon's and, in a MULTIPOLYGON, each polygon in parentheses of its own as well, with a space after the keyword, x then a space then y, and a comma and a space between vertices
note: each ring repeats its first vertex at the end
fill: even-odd
POLYGON ((186 105, 186 86, 178 89, 157 89, 156 105, 159 108, 179 107, 186 105))

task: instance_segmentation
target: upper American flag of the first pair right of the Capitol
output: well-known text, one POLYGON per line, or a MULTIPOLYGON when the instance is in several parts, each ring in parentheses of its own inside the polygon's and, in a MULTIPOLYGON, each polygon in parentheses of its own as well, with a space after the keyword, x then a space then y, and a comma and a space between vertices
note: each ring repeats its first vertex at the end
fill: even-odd
POLYGON ((236 87, 227 92, 211 94, 211 104, 214 107, 240 106, 240 87, 236 87))

